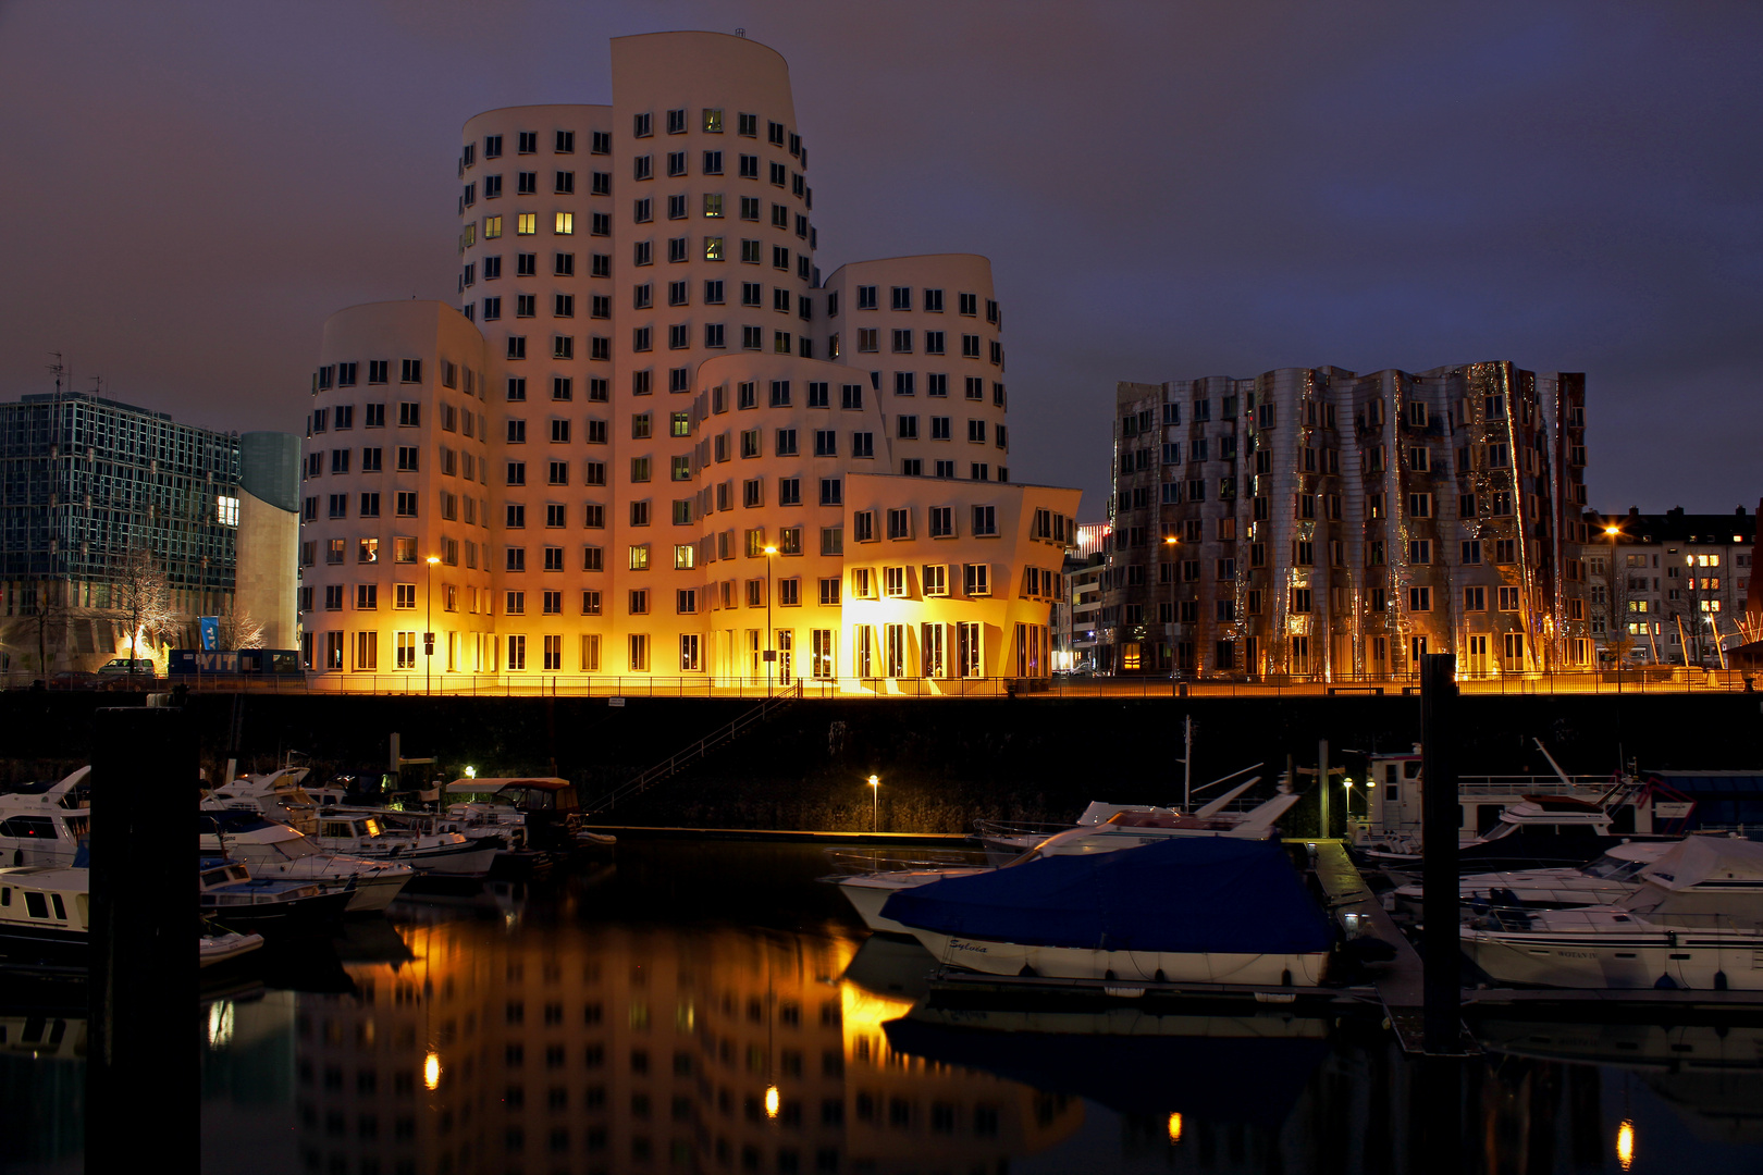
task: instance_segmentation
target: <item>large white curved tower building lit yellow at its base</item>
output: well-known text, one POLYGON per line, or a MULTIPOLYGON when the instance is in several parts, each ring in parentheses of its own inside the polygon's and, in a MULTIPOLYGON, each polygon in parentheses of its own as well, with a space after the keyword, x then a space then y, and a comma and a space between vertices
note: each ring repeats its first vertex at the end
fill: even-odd
POLYGON ((765 46, 621 37, 612 79, 612 106, 465 123, 457 308, 326 322, 310 668, 374 689, 1045 676, 1079 491, 1010 481, 989 262, 822 280, 765 46))

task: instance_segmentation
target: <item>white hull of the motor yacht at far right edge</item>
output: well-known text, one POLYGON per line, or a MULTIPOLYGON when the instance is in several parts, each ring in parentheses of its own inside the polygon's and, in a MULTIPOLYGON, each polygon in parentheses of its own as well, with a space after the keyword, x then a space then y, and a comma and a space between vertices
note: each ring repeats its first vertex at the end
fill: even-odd
POLYGON ((1463 955, 1495 983, 1596 990, 1678 987, 1763 992, 1763 934, 1756 932, 1659 932, 1615 937, 1465 927, 1460 934, 1463 955))

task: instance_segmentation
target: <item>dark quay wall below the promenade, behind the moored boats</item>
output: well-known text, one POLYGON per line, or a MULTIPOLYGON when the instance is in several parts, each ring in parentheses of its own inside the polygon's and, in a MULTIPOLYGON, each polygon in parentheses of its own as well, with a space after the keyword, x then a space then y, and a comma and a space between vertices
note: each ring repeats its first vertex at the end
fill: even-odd
MULTIPOLYGON (((141 698, 0 694, 0 782, 58 777, 90 761, 92 713, 106 705, 141 705, 141 698)), ((189 706, 210 779, 219 779, 229 749, 238 750, 242 772, 268 770, 296 750, 312 757, 321 779, 377 773, 397 731, 405 757, 437 759, 432 768, 407 766, 405 786, 458 779, 471 765, 478 775, 564 775, 592 803, 755 703, 197 694, 189 706)), ((1363 754, 1354 752, 1402 750, 1419 738, 1417 698, 802 701, 601 819, 964 831, 977 817, 1068 821, 1090 800, 1179 802, 1188 713, 1197 728, 1194 782, 1266 763, 1259 791, 1271 789, 1287 756, 1313 765, 1320 738, 1329 740, 1331 763, 1345 763, 1354 779, 1365 772, 1363 754), (878 812, 864 782, 871 773, 882 780, 878 812)), ((1546 772, 1534 738, 1569 773, 1610 773, 1622 759, 1638 759, 1643 770, 1763 768, 1758 694, 1472 696, 1462 701, 1462 717, 1465 775, 1546 772)), ((1312 833, 1313 800, 1285 826, 1312 833)))

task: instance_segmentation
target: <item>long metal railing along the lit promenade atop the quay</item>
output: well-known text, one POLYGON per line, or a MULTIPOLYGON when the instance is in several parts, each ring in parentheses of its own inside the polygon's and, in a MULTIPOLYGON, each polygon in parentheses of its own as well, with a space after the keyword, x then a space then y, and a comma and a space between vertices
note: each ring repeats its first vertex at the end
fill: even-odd
MULTIPOLYGON (((1465 696, 1569 696, 1569 694, 1744 694, 1759 692, 1763 671, 1752 669, 1604 669, 1529 676, 1460 676, 1465 696)), ((1407 676, 836 676, 788 682, 753 676, 693 675, 569 675, 569 673, 192 673, 175 678, 132 675, 35 680, 0 676, 0 689, 48 692, 169 691, 252 694, 398 694, 435 698, 765 698, 800 687, 804 699, 834 698, 1402 698, 1419 696, 1419 680, 1407 676)))

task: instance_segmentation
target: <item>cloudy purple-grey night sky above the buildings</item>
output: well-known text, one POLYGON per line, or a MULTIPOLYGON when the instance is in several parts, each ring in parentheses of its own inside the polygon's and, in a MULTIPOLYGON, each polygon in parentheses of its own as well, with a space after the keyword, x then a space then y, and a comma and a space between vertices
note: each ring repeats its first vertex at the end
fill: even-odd
POLYGON ((1763 5, 0 2, 0 398, 298 430, 319 328, 453 301, 471 115, 606 41, 790 62, 818 262, 993 259, 1017 481, 1104 511, 1114 382, 1587 372, 1594 507, 1763 493, 1763 5))

